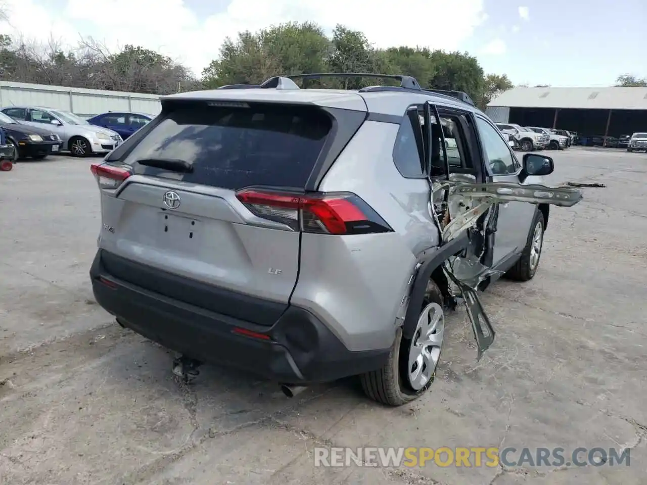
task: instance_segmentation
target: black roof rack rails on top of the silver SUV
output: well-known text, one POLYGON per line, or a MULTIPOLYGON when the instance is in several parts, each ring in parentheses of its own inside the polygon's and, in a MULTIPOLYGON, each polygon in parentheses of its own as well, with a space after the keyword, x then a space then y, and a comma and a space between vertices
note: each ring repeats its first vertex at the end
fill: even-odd
POLYGON ((312 72, 307 74, 290 74, 286 76, 274 76, 263 83, 256 84, 230 84, 218 89, 300 89, 294 82, 296 79, 322 79, 322 78, 382 78, 400 81, 399 87, 394 86, 373 86, 360 91, 425 91, 448 96, 468 105, 476 106, 472 98, 463 91, 444 91, 442 89, 422 89, 420 83, 413 76, 404 74, 377 74, 375 72, 312 72))

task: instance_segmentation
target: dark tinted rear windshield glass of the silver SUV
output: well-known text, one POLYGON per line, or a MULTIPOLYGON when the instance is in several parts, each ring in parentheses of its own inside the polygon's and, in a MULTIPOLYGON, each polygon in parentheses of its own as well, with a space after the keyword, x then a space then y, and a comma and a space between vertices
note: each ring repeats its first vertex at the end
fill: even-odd
POLYGON ((138 174, 233 190, 303 188, 330 129, 327 114, 311 107, 191 105, 167 114, 124 162, 138 174), (183 160, 193 171, 137 163, 144 159, 183 160))

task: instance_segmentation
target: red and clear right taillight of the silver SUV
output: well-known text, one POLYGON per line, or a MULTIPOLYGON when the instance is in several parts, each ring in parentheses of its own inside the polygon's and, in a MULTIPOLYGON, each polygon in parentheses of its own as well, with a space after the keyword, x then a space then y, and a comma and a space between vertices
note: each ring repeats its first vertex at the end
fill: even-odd
POLYGON ((393 231, 371 206, 352 193, 300 195, 243 189, 236 197, 254 215, 287 224, 295 231, 320 234, 393 231))

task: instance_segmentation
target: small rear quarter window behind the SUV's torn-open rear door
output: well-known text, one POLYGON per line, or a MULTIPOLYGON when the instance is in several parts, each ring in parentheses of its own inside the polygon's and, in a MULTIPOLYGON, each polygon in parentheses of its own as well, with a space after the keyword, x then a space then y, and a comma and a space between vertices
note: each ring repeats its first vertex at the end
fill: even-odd
POLYGON ((417 110, 402 118, 400 129, 393 146, 393 162, 402 177, 421 177, 424 175, 422 130, 417 110))

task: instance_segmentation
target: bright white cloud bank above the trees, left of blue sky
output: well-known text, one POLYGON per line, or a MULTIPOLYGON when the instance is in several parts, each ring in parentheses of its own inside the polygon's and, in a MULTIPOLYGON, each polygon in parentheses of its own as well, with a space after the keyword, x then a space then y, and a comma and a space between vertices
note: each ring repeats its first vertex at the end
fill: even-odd
POLYGON ((69 45, 80 36, 93 36, 116 50, 141 45, 171 56, 195 74, 217 58, 226 36, 258 30, 286 21, 316 21, 324 28, 336 23, 362 30, 376 47, 417 45, 455 50, 485 20, 483 0, 413 0, 401 8, 386 0, 367 6, 360 0, 232 0, 224 12, 198 17, 183 0, 67 0, 52 8, 47 0, 7 0, 10 24, 0 33, 20 32, 28 39, 47 41, 50 34, 69 45), (420 28, 411 12, 428 19, 420 28), (433 19, 456 18, 443 22, 433 19))

